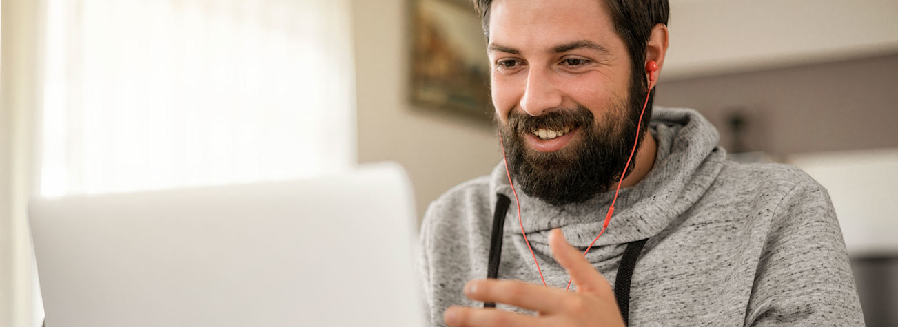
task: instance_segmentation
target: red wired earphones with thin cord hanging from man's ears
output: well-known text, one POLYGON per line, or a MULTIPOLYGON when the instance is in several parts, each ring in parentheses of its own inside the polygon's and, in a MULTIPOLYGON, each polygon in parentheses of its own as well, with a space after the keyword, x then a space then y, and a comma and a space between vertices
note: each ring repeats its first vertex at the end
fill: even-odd
MULTIPOLYGON (((639 142, 639 128, 642 127, 642 116, 646 113, 646 106, 648 105, 648 96, 651 94, 651 84, 652 84, 652 81, 656 80, 657 72, 658 72, 658 64, 655 62, 655 60, 649 60, 646 63, 646 73, 648 73, 648 83, 646 84, 647 88, 648 88, 648 90, 646 92, 646 102, 642 105, 642 112, 639 113, 639 122, 636 125, 636 141, 633 142, 633 150, 629 152, 629 159, 627 159, 627 165, 624 166, 624 168, 623 168, 624 172, 626 172, 627 169, 629 169, 629 162, 633 159, 633 154, 636 153, 636 148, 637 148, 637 145, 639 142)), ((542 277, 542 270, 540 269, 540 262, 536 261, 536 254, 533 253, 533 248, 530 247, 530 241, 527 240, 527 233, 524 232, 524 221, 521 219, 521 202, 518 202, 518 200, 517 200, 517 191, 515 191, 515 183, 512 182, 511 171, 508 170, 508 159, 506 158, 505 144, 503 144, 503 142, 502 142, 501 135, 499 136, 499 146, 502 147, 502 162, 505 163, 506 175, 508 176, 508 185, 511 185, 511 192, 513 194, 515 194, 515 204, 517 205, 517 222, 518 222, 518 224, 521 225, 521 234, 524 236, 524 243, 527 244, 527 249, 530 250, 530 255, 533 256, 533 263, 536 264, 536 271, 540 272, 540 279, 542 280, 542 286, 548 286, 548 285, 546 285, 546 279, 542 277)), ((624 174, 621 173, 621 179, 618 181, 618 187, 614 191, 614 199, 612 200, 612 204, 610 206, 608 206, 608 213, 605 214, 605 221, 602 224, 602 231, 600 231, 599 235, 597 237, 595 237, 593 242, 590 243, 589 246, 586 247, 586 251, 583 252, 584 256, 587 253, 589 253, 589 249, 593 248, 595 241, 598 241, 599 237, 602 237, 602 234, 604 234, 605 229, 608 228, 608 224, 612 221, 612 213, 614 212, 614 203, 617 202, 617 195, 618 195, 618 193, 621 192, 621 184, 623 183, 623 176, 624 176, 624 174)), ((568 280, 568 287, 565 289, 570 289, 571 281, 573 281, 573 279, 568 280)))

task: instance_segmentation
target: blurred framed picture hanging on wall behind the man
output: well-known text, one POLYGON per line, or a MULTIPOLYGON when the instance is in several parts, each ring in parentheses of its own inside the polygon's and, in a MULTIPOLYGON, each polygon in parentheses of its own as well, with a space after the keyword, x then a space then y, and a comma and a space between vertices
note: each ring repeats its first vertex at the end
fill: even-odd
POLYGON ((470 0, 410 0, 411 102, 489 122, 487 40, 470 0))

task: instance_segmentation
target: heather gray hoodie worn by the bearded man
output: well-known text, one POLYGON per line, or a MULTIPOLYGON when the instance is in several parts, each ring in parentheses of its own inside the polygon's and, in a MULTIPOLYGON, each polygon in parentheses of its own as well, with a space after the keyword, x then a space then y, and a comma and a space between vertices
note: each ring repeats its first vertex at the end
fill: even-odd
MULTIPOLYGON (((648 238, 633 273, 630 325, 864 324, 841 229, 821 185, 788 165, 726 160, 717 131, 694 110, 656 107, 650 126, 655 166, 638 185, 621 189, 611 225, 586 255, 613 285, 624 244, 648 238)), ((499 278, 540 283, 505 174, 500 163, 427 209, 421 271, 433 325, 444 325, 449 305, 482 305, 464 297, 462 287, 487 275, 497 193, 512 199, 499 278)), ((568 275, 551 257, 548 232, 562 228, 568 242, 585 250, 602 228, 613 191, 562 207, 518 196, 546 282, 563 288, 568 275)))

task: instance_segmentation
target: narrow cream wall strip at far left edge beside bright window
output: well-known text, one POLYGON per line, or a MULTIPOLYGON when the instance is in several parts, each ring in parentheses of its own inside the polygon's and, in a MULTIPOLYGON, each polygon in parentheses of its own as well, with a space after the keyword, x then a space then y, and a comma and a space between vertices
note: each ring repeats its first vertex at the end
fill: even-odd
POLYGON ((40 312, 26 204, 36 108, 36 1, 0 2, 0 326, 34 326, 40 312))

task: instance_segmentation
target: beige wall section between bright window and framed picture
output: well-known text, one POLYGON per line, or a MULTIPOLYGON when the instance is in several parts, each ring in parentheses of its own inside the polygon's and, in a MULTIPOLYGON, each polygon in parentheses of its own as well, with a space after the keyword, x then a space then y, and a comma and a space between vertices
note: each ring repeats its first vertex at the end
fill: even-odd
POLYGON ((393 160, 415 187, 418 217, 454 185, 501 160, 492 127, 409 104, 407 0, 354 0, 358 161, 393 160))

